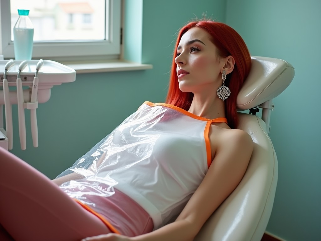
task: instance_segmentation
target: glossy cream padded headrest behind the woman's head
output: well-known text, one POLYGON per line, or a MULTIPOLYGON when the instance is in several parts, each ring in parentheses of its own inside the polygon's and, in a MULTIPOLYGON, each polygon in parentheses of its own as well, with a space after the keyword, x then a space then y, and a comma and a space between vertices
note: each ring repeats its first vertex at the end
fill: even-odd
POLYGON ((237 109, 248 110, 281 94, 294 77, 294 67, 277 58, 252 56, 252 67, 237 97, 237 109))

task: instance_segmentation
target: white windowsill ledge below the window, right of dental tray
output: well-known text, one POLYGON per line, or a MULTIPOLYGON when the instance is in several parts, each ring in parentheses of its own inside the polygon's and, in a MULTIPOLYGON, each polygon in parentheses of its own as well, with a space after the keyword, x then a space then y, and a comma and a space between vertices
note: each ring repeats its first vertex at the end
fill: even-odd
POLYGON ((153 68, 151 64, 140 64, 129 62, 126 60, 106 60, 92 62, 66 61, 61 63, 70 68, 73 68, 76 71, 76 74, 145 70, 153 68))

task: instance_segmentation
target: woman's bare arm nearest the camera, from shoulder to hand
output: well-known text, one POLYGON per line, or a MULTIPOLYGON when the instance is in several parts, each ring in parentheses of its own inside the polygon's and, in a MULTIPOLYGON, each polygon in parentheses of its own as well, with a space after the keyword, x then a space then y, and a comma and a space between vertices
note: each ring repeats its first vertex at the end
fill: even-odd
POLYGON ((230 134, 222 139, 203 182, 175 222, 137 237, 110 234, 86 240, 192 241, 205 221, 241 181, 252 150, 253 142, 246 132, 231 130, 230 134))

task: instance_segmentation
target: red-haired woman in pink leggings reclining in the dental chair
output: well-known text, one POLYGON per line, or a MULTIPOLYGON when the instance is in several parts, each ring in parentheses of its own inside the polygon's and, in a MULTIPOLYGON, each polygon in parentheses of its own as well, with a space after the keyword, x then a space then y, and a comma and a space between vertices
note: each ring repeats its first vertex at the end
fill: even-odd
POLYGON ((25 176, 23 183, 10 180, 13 172, 0 176, 1 225, 16 240, 193 240, 239 184, 252 153, 252 139, 235 129, 250 66, 232 28, 187 24, 167 104, 143 103, 56 178, 59 187, 0 152, 5 170, 25 176))

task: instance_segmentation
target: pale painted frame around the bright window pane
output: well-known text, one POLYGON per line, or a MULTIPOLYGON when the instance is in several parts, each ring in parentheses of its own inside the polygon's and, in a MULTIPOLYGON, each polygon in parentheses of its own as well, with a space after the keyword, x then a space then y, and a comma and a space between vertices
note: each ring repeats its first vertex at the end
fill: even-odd
MULTIPOLYGON (((75 60, 86 57, 87 60, 119 59, 121 54, 121 0, 109 0, 106 4, 106 14, 110 21, 105 21, 108 40, 91 41, 36 41, 33 44, 33 59, 75 60)), ((0 54, 4 58, 14 58, 13 41, 11 40, 10 0, 0 0, 0 54)))

